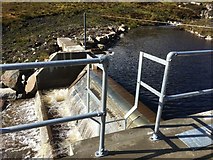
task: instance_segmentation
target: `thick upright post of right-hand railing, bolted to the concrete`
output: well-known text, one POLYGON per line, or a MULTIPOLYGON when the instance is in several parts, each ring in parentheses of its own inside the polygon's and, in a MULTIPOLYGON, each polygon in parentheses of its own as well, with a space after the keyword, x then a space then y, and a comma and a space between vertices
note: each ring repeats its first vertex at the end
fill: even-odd
POLYGON ((161 93, 158 101, 158 111, 157 111, 157 117, 155 121, 155 129, 154 133, 151 137, 153 141, 156 141, 159 139, 159 128, 160 128, 160 120, 161 120, 161 115, 164 107, 164 102, 165 102, 165 96, 166 96, 166 85, 168 81, 168 74, 169 74, 169 68, 170 68, 170 62, 171 62, 171 57, 167 56, 166 58, 167 64, 164 69, 164 75, 163 75, 163 82, 161 86, 161 93))

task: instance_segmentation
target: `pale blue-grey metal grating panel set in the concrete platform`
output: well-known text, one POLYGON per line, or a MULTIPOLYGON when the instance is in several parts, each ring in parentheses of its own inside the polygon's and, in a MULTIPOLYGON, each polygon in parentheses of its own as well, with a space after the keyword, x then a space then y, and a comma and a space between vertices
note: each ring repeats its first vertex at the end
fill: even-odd
POLYGON ((213 124, 192 129, 176 136, 189 148, 198 149, 213 144, 213 124))

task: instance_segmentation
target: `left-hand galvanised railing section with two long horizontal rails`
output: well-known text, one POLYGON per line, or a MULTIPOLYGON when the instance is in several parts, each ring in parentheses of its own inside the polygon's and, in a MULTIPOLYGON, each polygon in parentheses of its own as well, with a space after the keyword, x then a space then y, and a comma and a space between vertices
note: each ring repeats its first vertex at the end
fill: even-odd
MULTIPOLYGON (((65 123, 75 120, 81 120, 86 118, 93 119, 94 117, 101 117, 100 124, 100 141, 99 141, 99 149, 95 153, 97 157, 102 157, 107 155, 107 150, 105 150, 105 122, 106 122, 106 100, 107 100, 107 76, 108 76, 108 64, 109 60, 107 56, 101 56, 100 58, 94 57, 90 59, 75 59, 75 60, 60 60, 60 61, 49 61, 49 62, 30 62, 30 63, 15 63, 15 64, 1 64, 0 70, 6 71, 6 70, 15 70, 15 69, 32 69, 32 68, 48 68, 48 67, 65 67, 65 66, 78 66, 78 65, 88 65, 88 69, 90 64, 97 64, 100 66, 100 68, 103 71, 102 74, 102 94, 101 94, 101 100, 99 100, 99 103, 101 105, 101 111, 97 112, 90 112, 89 106, 88 107, 88 113, 76 115, 76 116, 68 116, 63 118, 55 118, 35 123, 28 123, 28 124, 21 124, 16 126, 10 126, 5 128, 0 128, 0 133, 12 133, 32 128, 38 128, 43 127, 47 125, 54 125, 58 123, 65 123)), ((88 70, 88 76, 89 76, 89 70, 88 70)), ((87 85, 89 86, 89 77, 87 77, 87 85)), ((88 95, 93 95, 90 88, 87 86, 88 95)), ((95 96, 93 96, 95 97, 95 96)), ((97 100, 97 98, 94 98, 97 100)), ((87 99, 87 105, 89 104, 89 98, 87 99)))

